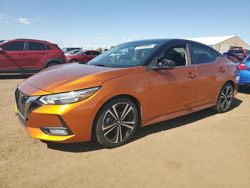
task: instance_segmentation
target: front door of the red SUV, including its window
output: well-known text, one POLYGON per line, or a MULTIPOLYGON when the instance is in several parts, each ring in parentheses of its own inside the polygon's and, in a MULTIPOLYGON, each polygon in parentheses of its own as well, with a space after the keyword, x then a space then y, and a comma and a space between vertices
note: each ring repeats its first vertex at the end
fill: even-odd
POLYGON ((20 71, 25 60, 24 41, 7 42, 0 47, 0 69, 4 72, 20 71))

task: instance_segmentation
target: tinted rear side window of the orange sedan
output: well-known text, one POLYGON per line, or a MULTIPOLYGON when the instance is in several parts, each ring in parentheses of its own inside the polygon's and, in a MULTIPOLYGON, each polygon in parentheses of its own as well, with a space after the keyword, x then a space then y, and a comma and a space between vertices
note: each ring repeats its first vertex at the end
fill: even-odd
POLYGON ((199 44, 191 45, 192 64, 213 63, 218 56, 219 53, 209 47, 199 44))

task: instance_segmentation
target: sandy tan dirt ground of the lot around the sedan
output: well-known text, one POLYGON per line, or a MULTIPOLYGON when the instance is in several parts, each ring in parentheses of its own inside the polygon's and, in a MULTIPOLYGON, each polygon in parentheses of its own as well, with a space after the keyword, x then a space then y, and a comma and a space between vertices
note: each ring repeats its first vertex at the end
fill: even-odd
POLYGON ((228 113, 159 123, 104 149, 32 139, 13 112, 20 81, 0 80, 0 187, 250 187, 250 91, 228 113))

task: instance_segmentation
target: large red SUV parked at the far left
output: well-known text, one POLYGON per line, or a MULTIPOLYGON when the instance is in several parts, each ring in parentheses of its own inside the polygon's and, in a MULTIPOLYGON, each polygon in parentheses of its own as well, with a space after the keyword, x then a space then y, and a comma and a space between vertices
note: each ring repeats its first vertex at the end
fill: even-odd
POLYGON ((0 73, 34 73, 64 63, 63 51, 47 41, 15 39, 0 42, 0 73))

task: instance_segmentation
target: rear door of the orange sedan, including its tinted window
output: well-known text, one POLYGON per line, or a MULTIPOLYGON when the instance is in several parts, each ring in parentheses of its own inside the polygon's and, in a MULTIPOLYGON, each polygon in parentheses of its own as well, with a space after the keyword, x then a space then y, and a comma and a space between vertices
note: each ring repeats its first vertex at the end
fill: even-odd
POLYGON ((226 66, 220 61, 220 54, 212 48, 190 44, 191 64, 197 68, 196 106, 214 103, 217 99, 221 80, 226 74, 226 66))

